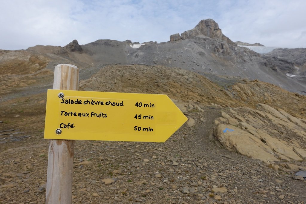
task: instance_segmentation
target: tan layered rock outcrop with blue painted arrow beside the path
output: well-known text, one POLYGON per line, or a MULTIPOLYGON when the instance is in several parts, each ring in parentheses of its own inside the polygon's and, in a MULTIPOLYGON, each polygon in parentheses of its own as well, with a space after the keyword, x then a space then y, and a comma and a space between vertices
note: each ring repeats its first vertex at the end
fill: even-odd
MULTIPOLYGON (((215 137, 227 150, 269 165, 271 162, 306 159, 305 120, 266 104, 258 104, 258 109, 230 109, 229 113, 221 112, 221 116, 215 121, 215 137)), ((286 169, 288 164, 270 166, 273 169, 279 166, 286 169)))

